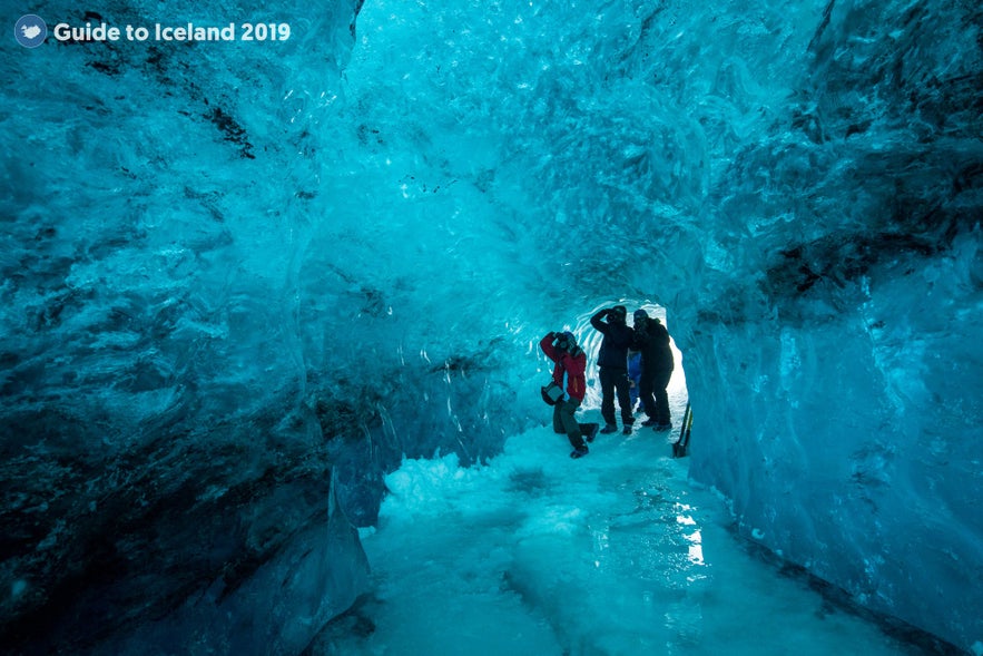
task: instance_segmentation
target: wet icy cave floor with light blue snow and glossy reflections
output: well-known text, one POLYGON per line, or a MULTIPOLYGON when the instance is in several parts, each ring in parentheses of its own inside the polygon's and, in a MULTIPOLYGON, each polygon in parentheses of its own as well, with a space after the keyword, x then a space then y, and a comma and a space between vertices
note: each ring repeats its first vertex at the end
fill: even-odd
POLYGON ((313 654, 914 653, 754 557, 665 434, 569 450, 542 428, 486 467, 404 462, 363 536, 374 589, 313 654))

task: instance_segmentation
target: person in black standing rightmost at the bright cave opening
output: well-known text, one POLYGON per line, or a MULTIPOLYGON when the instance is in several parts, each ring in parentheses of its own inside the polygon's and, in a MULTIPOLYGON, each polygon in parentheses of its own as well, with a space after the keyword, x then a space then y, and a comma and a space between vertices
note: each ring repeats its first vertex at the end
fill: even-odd
POLYGON ((672 378, 672 349, 669 346, 669 331, 658 320, 650 317, 645 310, 635 311, 635 343, 641 352, 641 378, 639 396, 648 419, 641 425, 653 427, 657 431, 672 428, 669 417, 669 379, 672 378))

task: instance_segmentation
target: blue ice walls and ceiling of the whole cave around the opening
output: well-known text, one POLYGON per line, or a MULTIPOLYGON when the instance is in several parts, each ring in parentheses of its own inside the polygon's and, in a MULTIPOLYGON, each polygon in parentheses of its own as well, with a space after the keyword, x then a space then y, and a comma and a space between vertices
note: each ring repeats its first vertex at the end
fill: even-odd
POLYGON ((981 639, 979 10, 357 7, 47 2, 291 39, 0 45, 3 635, 217 639, 187 600, 303 545, 351 575, 316 631, 364 586, 305 542, 328 499, 371 523, 403 454, 495 453, 542 420, 539 336, 628 298, 745 535, 981 639))

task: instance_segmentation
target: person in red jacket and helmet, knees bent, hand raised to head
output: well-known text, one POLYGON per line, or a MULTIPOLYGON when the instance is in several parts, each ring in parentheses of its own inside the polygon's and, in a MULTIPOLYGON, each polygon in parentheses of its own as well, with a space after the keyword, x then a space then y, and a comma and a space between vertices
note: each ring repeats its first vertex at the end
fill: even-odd
POLYGON ((587 380, 583 374, 587 369, 587 355, 583 349, 577 345, 573 333, 569 331, 547 333, 540 341, 539 347, 556 363, 553 382, 563 390, 563 395, 553 405, 553 430, 558 433, 567 433, 567 439, 573 447, 570 458, 582 458, 589 452, 583 441, 584 437, 588 442, 593 441, 599 428, 597 423, 578 423, 573 418, 587 392, 587 380))

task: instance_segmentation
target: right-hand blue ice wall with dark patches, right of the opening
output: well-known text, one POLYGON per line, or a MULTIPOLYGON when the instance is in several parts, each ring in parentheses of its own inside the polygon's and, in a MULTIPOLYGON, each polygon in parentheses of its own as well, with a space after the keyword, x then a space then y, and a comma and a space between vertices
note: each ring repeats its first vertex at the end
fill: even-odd
POLYGON ((829 3, 803 53, 707 198, 691 474, 746 535, 979 649, 981 14, 829 3))

